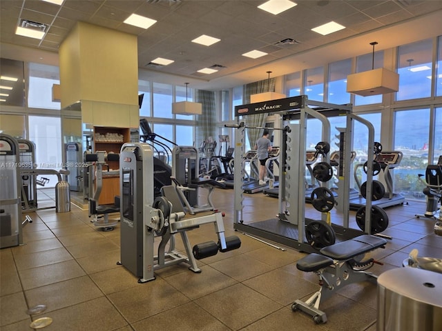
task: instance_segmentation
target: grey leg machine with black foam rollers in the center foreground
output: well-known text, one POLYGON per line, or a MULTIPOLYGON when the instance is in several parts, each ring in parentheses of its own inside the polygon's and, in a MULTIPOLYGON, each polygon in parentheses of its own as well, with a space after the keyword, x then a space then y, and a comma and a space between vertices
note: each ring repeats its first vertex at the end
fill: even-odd
POLYGON ((211 211, 201 216, 186 214, 174 185, 164 186, 163 195, 155 198, 153 169, 153 151, 148 144, 124 144, 119 167, 121 261, 117 264, 140 277, 139 283, 145 283, 155 279, 155 270, 177 263, 185 263, 191 271, 201 272, 196 259, 240 248, 238 237, 224 237, 221 212, 211 211), (206 223, 213 223, 218 243, 208 241, 192 248, 187 231, 206 223), (175 234, 180 234, 186 255, 174 249, 175 234), (155 252, 156 237, 160 243, 155 252))

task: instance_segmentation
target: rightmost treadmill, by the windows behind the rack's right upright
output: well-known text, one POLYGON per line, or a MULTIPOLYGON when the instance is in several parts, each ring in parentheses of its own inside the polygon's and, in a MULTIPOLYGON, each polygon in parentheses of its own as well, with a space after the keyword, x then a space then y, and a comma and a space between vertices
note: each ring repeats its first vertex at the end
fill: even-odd
MULTIPOLYGON (((382 169, 378 173, 378 181, 381 181, 385 187, 385 195, 383 198, 372 201, 372 205, 377 205, 380 208, 391 207, 392 205, 402 205, 405 202, 405 197, 402 194, 393 192, 393 178, 390 170, 396 168, 402 160, 402 152, 392 151, 392 152, 380 152, 374 158, 374 161, 381 163, 382 169)), ((354 167, 354 179, 358 184, 359 192, 361 192, 361 181, 356 175, 358 168, 363 167, 364 163, 358 163, 354 167)), ((350 210, 359 210, 359 208, 365 206, 365 198, 359 195, 356 198, 350 199, 349 208, 350 210)))

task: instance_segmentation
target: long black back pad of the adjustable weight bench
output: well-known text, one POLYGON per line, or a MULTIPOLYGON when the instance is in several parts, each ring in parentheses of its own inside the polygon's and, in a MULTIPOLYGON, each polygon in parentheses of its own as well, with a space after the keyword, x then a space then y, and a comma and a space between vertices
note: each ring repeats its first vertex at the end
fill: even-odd
POLYGON ((363 234, 362 236, 322 248, 320 253, 335 260, 347 260, 375 248, 380 248, 385 243, 387 241, 383 238, 363 234))

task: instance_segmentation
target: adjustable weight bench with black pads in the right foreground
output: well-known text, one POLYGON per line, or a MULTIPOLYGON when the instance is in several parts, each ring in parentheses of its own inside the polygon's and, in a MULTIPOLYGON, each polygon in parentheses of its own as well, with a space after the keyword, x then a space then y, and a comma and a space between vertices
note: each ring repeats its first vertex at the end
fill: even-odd
POLYGON ((387 241, 380 237, 363 234, 334 245, 326 246, 320 254, 311 253, 296 263, 296 268, 305 272, 315 272, 319 276, 320 289, 307 301, 296 300, 291 310, 302 310, 313 317, 315 323, 326 323, 325 312, 319 310, 321 299, 328 299, 345 285, 360 281, 376 283, 377 276, 365 270, 372 268, 374 259, 360 261, 363 254, 385 248, 387 241))

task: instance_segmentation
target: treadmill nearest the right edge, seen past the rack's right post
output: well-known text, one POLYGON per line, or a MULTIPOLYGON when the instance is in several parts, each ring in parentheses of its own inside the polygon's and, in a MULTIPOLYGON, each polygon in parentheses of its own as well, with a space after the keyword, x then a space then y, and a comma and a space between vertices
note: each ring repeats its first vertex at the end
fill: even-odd
MULTIPOLYGON (((376 153, 374 159, 374 173, 373 176, 377 176, 377 181, 374 181, 374 190, 382 190, 383 196, 372 201, 372 205, 376 205, 378 208, 386 208, 392 205, 403 205, 405 197, 402 194, 393 192, 393 178, 392 170, 396 168, 402 160, 402 152, 392 151, 384 152, 379 151, 376 153), (383 187, 383 188, 382 188, 383 187)), ((364 172, 367 172, 367 162, 358 163, 354 167, 354 179, 358 185, 359 192, 364 190, 364 184, 361 184, 361 180, 358 178, 358 169, 363 168, 364 172)), ((359 210, 365 205, 365 197, 360 194, 358 197, 350 199, 350 209, 359 210)))

